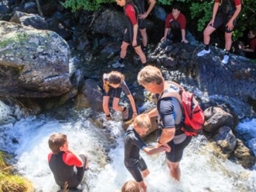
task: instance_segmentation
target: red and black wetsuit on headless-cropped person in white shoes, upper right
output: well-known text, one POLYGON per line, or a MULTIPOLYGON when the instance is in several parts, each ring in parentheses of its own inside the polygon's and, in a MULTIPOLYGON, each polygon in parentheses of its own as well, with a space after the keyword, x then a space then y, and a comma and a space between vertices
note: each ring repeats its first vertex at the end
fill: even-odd
MULTIPOLYGON (((219 5, 219 14, 215 18, 212 27, 215 29, 219 28, 221 25, 226 25, 228 21, 233 17, 236 6, 241 5, 241 0, 215 0, 215 3, 220 3, 219 5)), ((233 22, 233 26, 235 26, 236 19, 233 22)), ((234 30, 228 30, 228 27, 225 28, 226 33, 231 33, 234 30)))

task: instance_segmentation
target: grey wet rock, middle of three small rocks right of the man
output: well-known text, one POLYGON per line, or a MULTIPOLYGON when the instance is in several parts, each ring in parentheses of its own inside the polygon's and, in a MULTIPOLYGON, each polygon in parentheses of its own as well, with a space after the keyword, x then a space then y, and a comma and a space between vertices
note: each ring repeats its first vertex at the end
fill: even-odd
POLYGON ((222 126, 213 137, 215 145, 221 148, 221 153, 230 156, 236 146, 236 137, 228 126, 222 126))

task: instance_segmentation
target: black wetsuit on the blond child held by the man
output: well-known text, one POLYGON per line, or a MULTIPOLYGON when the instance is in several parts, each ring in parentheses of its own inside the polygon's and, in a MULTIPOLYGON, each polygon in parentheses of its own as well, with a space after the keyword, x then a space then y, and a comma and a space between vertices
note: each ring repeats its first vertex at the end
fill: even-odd
POLYGON ((145 143, 133 129, 133 126, 129 126, 124 135, 124 164, 137 182, 143 180, 141 171, 147 169, 144 159, 140 156, 140 150, 145 147, 145 143))

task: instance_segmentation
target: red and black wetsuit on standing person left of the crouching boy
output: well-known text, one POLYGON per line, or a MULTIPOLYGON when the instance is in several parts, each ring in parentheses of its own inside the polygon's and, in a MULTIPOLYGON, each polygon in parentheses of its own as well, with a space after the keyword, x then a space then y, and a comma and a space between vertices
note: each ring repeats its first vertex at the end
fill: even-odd
MULTIPOLYGON (((124 42, 132 44, 133 41, 133 26, 138 23, 138 9, 133 4, 129 3, 124 7, 124 16, 127 21, 126 33, 124 34, 124 42)), ((137 32, 137 46, 141 45, 140 31, 137 32)))

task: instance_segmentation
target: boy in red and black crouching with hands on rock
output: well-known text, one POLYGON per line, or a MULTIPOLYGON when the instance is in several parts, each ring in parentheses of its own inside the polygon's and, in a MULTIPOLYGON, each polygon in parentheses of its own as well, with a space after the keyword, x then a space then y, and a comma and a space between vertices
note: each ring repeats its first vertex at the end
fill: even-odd
POLYGON ((166 38, 174 43, 188 43, 186 39, 186 17, 180 12, 179 4, 173 5, 172 13, 165 20, 164 37, 161 41, 164 41, 166 38))

